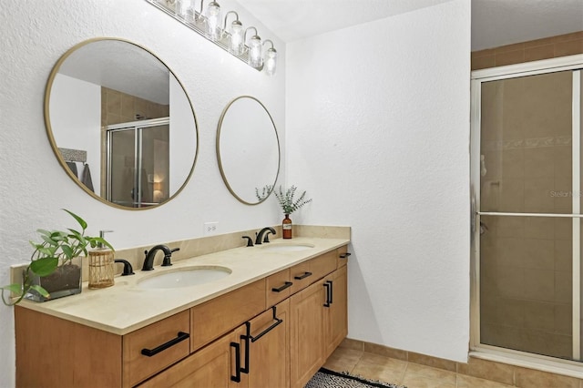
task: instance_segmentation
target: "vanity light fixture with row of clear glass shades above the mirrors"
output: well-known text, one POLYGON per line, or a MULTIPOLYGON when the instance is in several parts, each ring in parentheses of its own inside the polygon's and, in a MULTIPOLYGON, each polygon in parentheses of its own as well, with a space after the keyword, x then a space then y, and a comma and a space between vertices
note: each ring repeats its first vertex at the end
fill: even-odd
POLYGON ((229 11, 225 14, 224 24, 221 26, 221 8, 217 1, 211 0, 204 12, 204 0, 199 0, 199 10, 195 9, 194 4, 198 0, 146 1, 256 70, 265 69, 268 76, 275 74, 277 51, 273 42, 269 39, 265 41, 265 43, 271 44, 271 48, 265 51, 265 58, 263 58, 263 45, 261 45, 261 37, 257 28, 248 27, 243 33, 243 25, 235 11, 229 11), (228 27, 227 17, 230 14, 235 15, 235 20, 228 27), (254 30, 254 35, 248 41, 247 32, 249 30, 254 30))

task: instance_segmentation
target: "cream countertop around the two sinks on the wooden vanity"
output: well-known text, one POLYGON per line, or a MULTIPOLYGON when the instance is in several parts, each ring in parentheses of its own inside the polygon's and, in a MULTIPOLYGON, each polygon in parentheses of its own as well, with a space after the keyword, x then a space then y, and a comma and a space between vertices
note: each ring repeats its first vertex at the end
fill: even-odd
POLYGON ((171 267, 155 266, 154 271, 135 268, 135 275, 119 276, 116 284, 107 289, 89 290, 87 283, 84 283, 80 294, 45 302, 24 300, 20 305, 67 321, 124 335, 349 242, 345 239, 306 237, 271 240, 269 244, 261 246, 221 250, 175 261, 171 267), (277 244, 309 244, 313 248, 295 251, 263 249, 277 244), (145 290, 138 286, 138 281, 147 277, 193 265, 227 267, 231 273, 216 281, 188 287, 145 290))

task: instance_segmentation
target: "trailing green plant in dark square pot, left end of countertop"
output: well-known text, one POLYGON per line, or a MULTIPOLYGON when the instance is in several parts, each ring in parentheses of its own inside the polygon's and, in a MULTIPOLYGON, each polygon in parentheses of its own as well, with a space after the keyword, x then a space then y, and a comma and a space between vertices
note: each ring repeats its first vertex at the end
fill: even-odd
POLYGON ((77 220, 81 230, 36 230, 42 241, 30 241, 35 250, 30 257, 30 264, 23 271, 22 284, 1 287, 2 301, 6 305, 15 305, 23 298, 49 301, 81 292, 80 255, 83 253, 87 256, 87 246, 95 248, 98 243, 113 250, 103 238, 86 236, 87 222, 72 211, 63 210, 77 220), (17 299, 6 299, 4 291, 12 292, 17 299))

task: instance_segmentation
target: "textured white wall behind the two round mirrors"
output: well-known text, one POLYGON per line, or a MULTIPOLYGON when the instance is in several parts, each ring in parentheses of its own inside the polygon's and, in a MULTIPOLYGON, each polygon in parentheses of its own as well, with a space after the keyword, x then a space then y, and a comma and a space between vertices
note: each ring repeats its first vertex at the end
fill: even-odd
MULTIPOLYGON (((285 46, 260 23, 240 11, 240 19, 274 39, 281 58, 285 46)), ((0 284, 8 266, 28 260, 28 240, 38 228, 72 226, 61 208, 84 217, 88 232, 111 229, 118 249, 202 236, 205 221, 219 232, 248 230, 281 220, 275 200, 242 205, 220 178, 215 135, 220 112, 234 97, 259 98, 283 138, 285 62, 275 77, 253 70, 144 0, 6 0, 0 7, 0 284), (179 77, 199 123, 199 158, 189 184, 157 209, 120 210, 91 198, 66 176, 49 146, 43 120, 46 80, 57 59, 77 43, 118 36, 145 46, 179 77)), ((97 179, 94 177, 94 182, 97 179)), ((15 384, 13 309, 0 305, 0 386, 15 384)))

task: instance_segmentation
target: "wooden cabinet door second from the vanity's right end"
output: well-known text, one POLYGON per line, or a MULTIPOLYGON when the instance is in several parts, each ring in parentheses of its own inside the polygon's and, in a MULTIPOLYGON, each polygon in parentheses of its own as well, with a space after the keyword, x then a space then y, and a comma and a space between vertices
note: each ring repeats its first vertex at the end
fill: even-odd
POLYGON ((324 358, 324 281, 316 281, 290 298, 290 382, 303 387, 324 358))

